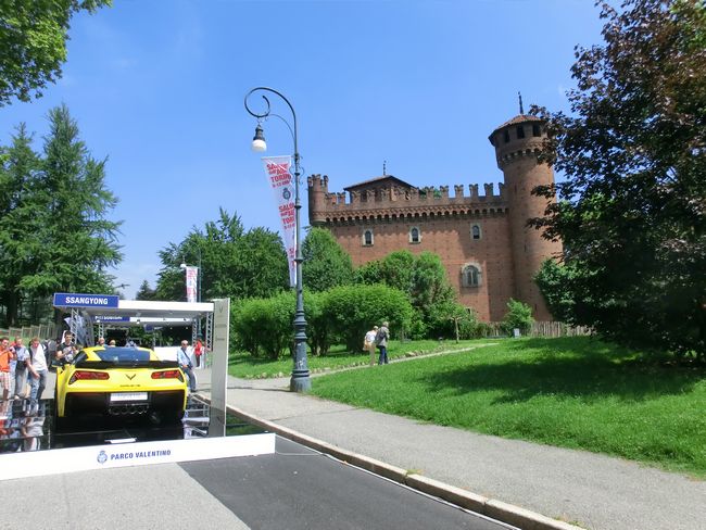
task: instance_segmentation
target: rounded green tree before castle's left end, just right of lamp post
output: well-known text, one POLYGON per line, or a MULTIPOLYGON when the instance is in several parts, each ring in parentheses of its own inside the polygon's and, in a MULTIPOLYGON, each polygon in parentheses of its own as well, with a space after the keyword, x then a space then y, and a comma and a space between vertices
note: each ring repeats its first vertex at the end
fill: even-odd
POLYGON ((326 228, 308 230, 302 244, 302 280, 314 292, 332 287, 346 286, 353 281, 351 256, 326 228))

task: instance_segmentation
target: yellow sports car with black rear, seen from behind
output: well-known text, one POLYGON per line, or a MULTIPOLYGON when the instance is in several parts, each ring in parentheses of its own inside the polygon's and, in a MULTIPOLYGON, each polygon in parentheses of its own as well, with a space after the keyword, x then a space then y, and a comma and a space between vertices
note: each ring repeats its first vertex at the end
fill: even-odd
POLYGON ((155 413, 181 418, 187 381, 174 361, 147 348, 85 348, 56 368, 55 415, 137 416, 155 413))

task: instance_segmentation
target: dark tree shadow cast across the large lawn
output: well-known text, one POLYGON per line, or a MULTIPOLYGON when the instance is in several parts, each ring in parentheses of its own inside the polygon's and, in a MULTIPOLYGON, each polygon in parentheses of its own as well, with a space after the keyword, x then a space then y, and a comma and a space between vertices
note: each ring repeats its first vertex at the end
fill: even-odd
POLYGON ((502 391, 494 403, 514 403, 539 395, 642 401, 689 392, 706 380, 703 366, 667 366, 597 340, 529 339, 505 344, 507 354, 499 355, 497 362, 470 361, 463 368, 426 375, 419 382, 431 391, 457 394, 502 391))

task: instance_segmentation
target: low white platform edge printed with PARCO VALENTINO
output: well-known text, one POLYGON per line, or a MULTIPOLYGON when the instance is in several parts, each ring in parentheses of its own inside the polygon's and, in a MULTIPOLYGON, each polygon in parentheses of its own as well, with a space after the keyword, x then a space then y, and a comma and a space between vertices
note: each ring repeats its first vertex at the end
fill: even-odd
POLYGON ((274 453, 274 432, 7 453, 0 455, 0 480, 274 453))

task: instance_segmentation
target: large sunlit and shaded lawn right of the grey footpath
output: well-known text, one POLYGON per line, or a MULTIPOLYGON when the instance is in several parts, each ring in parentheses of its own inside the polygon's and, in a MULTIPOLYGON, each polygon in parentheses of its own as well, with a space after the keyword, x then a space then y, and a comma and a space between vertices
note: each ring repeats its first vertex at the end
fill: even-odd
POLYGON ((495 343, 314 378, 313 393, 706 477, 703 365, 642 358, 590 338, 495 343))

